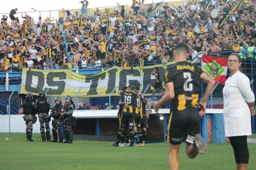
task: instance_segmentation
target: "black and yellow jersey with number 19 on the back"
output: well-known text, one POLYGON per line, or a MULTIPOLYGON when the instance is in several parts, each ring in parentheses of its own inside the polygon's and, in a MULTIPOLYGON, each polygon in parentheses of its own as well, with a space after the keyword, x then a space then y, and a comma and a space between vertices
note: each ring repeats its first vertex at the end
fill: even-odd
POLYGON ((126 102, 129 105, 128 108, 123 106, 122 111, 127 112, 127 113, 133 113, 134 100, 137 96, 137 93, 136 92, 133 93, 133 92, 130 92, 130 91, 126 91, 126 92, 121 91, 120 95, 121 95, 121 102, 126 102))

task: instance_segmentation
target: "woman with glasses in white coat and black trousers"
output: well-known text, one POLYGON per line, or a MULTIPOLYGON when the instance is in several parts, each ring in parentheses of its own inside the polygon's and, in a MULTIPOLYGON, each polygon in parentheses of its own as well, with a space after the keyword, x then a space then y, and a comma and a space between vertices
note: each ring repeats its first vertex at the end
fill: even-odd
POLYGON ((223 88, 224 127, 233 147, 236 169, 246 170, 249 161, 247 136, 251 135, 251 116, 254 115, 254 93, 250 80, 242 73, 241 57, 232 54, 228 59, 231 76, 223 88))

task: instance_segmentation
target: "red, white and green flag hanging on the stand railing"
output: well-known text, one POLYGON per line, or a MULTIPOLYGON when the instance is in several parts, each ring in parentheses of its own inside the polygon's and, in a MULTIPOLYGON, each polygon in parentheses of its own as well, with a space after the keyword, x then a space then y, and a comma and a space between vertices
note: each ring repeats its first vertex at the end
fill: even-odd
POLYGON ((202 67, 216 83, 219 82, 219 84, 225 84, 228 69, 228 57, 213 57, 204 54, 202 56, 202 67))

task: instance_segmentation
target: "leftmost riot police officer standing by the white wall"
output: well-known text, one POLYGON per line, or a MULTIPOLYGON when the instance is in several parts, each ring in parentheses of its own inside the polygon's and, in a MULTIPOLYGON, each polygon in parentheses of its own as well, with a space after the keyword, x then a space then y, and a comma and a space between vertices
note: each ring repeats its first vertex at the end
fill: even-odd
POLYGON ((23 108, 24 113, 24 120, 26 121, 26 134, 27 134, 27 141, 34 141, 32 140, 32 131, 33 131, 33 124, 36 123, 37 117, 34 116, 35 114, 35 103, 32 102, 33 95, 28 93, 26 95, 26 101, 21 106, 23 108), (34 118, 35 117, 35 118, 34 118))

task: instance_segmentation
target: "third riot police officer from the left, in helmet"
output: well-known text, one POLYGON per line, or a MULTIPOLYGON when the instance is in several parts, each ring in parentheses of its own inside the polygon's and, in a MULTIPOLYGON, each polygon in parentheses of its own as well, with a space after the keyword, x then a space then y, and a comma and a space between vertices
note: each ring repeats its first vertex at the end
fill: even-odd
POLYGON ((55 97, 56 105, 52 108, 51 115, 53 117, 52 120, 52 142, 58 142, 58 134, 59 134, 59 143, 63 142, 63 135, 62 135, 62 120, 60 120, 60 113, 61 109, 63 109, 63 105, 61 103, 60 97, 55 97), (58 129, 58 132, 57 132, 58 129))

